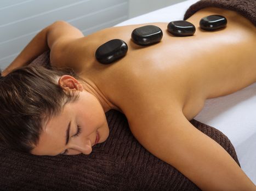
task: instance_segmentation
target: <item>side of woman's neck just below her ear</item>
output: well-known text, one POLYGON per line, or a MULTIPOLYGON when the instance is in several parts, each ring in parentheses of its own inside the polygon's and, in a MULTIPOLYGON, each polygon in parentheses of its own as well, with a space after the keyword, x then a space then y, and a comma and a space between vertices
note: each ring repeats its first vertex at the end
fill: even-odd
POLYGON ((100 89, 95 85, 92 80, 83 78, 80 82, 87 92, 93 94, 93 96, 95 96, 99 100, 104 112, 107 112, 111 109, 119 111, 118 107, 110 102, 110 100, 104 95, 103 92, 100 91, 100 89))

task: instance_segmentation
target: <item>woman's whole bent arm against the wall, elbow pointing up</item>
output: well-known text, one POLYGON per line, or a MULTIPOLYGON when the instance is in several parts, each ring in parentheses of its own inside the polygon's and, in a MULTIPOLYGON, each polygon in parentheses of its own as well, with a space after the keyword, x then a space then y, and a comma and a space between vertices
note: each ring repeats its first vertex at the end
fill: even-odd
MULTIPOLYGON (((43 52, 52 50, 55 44, 61 41, 83 37, 83 33, 65 21, 56 21, 37 33, 29 44, 20 52, 12 63, 2 72, 7 75, 13 69, 30 64, 43 52)), ((58 46, 59 48, 59 46, 58 46)))

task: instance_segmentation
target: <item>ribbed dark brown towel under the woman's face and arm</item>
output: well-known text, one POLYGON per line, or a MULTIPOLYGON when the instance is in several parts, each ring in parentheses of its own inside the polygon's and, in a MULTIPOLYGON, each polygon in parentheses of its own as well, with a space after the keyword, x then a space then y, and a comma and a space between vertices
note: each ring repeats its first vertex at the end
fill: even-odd
MULTIPOLYGON (((147 152, 123 114, 110 110, 106 118, 110 136, 88 156, 33 156, 0 144, 0 190, 200 190, 173 166, 147 152)), ((240 165, 223 133, 195 120, 191 123, 240 165)))

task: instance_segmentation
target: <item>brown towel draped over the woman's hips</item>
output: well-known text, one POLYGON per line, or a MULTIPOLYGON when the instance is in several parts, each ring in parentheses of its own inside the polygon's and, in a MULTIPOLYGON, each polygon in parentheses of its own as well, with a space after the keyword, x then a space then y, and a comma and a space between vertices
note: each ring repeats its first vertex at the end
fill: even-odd
POLYGON ((256 1, 255 0, 201 0, 187 9, 184 20, 189 19, 196 11, 206 7, 218 7, 234 10, 250 20, 256 26, 256 1))

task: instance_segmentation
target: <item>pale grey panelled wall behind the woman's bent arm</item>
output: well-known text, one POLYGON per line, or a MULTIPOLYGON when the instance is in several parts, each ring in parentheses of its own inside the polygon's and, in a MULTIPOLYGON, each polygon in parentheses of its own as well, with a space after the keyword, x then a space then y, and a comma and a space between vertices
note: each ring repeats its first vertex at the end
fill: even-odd
POLYGON ((65 20, 84 35, 128 19, 128 0, 0 1, 0 68, 44 27, 65 20), (12 4, 13 3, 13 4, 12 4))

